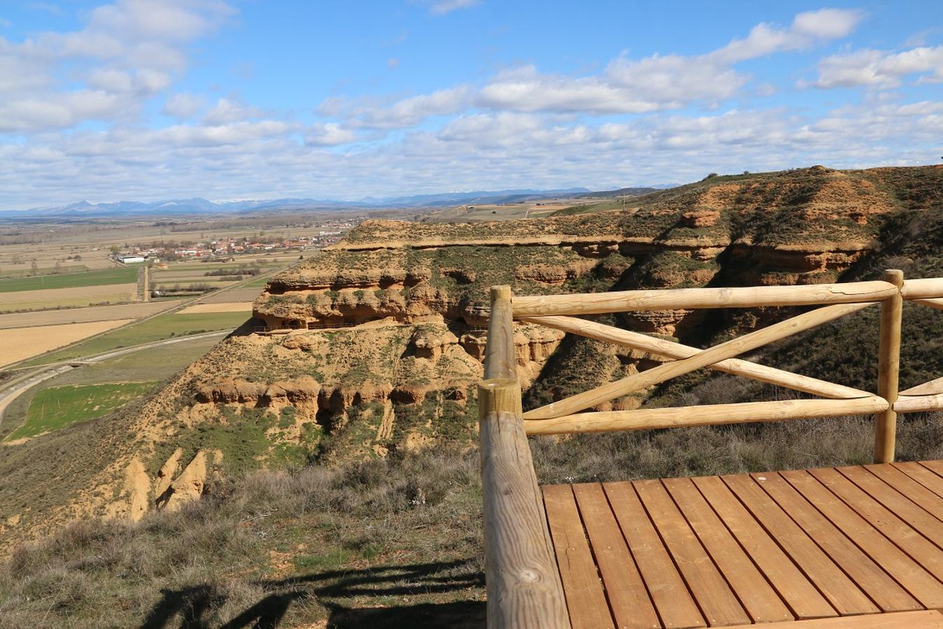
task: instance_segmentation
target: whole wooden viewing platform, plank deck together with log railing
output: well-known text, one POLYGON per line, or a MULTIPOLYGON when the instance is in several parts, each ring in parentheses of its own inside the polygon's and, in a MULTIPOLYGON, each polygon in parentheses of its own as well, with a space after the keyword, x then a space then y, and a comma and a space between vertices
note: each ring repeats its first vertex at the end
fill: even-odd
POLYGON ((943 409, 943 378, 898 391, 902 302, 943 279, 514 297, 491 290, 479 387, 489 627, 943 629, 943 461, 894 462, 899 413, 943 409), (876 393, 736 358, 880 304, 876 393), (706 350, 574 315, 821 306, 706 350), (523 412, 513 321, 666 356, 523 412), (586 412, 709 367, 817 399, 586 412), (527 435, 874 415, 874 465, 540 488, 527 435), (798 624, 797 624, 798 623, 798 624))

